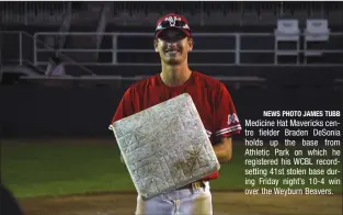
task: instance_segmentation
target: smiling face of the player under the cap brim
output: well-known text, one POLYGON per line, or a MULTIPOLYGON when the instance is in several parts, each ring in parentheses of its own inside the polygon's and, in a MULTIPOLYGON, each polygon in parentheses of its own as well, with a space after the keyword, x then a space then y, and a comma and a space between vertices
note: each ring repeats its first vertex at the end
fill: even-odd
POLYGON ((164 30, 155 41, 155 48, 163 63, 178 65, 187 59, 187 53, 193 48, 193 41, 180 30, 164 30))

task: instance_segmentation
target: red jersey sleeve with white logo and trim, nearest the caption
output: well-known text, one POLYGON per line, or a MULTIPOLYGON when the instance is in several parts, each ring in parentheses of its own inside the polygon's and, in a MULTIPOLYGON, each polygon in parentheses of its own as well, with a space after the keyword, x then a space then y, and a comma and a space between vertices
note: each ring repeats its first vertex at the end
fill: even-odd
POLYGON ((216 91, 215 139, 240 134, 242 127, 231 95, 224 83, 216 91))

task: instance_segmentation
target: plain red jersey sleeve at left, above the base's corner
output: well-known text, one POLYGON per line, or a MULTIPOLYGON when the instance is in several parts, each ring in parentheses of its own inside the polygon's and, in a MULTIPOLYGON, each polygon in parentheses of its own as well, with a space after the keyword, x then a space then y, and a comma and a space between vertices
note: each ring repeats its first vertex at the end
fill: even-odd
POLYGON ((125 91, 110 124, 110 129, 115 121, 122 120, 134 114, 134 103, 133 103, 133 89, 129 88, 125 91))

